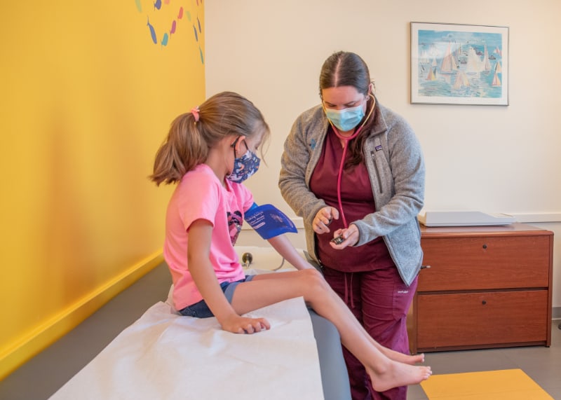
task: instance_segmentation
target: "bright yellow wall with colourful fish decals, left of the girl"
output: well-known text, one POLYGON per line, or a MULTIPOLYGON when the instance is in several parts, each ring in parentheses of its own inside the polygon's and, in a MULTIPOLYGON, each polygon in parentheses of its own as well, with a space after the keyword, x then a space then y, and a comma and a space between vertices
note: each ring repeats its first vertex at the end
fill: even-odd
POLYGON ((0 11, 1 379, 162 261, 147 175, 205 66, 202 0, 0 11))

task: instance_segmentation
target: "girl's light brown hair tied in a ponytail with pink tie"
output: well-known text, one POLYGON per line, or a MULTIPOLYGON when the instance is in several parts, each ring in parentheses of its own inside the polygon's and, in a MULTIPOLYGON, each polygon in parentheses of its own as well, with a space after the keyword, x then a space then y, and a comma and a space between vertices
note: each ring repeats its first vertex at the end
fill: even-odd
POLYGON ((184 174, 204 163, 208 151, 229 135, 269 137, 269 125, 261 111, 245 97, 220 92, 198 106, 198 111, 183 113, 171 123, 168 137, 156 152, 150 179, 159 186, 181 181, 184 174))

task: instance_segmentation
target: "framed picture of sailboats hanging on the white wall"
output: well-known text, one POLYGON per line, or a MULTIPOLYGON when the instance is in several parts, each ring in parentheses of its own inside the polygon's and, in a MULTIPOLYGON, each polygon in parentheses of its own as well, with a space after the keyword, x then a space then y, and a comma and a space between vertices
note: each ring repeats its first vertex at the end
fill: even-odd
POLYGON ((508 106, 508 27, 411 22, 411 102, 508 106))

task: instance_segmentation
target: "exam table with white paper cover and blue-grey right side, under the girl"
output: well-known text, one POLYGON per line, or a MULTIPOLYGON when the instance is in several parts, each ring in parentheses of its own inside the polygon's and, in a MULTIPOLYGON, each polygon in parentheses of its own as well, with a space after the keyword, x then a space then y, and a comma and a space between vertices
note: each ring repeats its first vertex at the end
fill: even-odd
MULTIPOLYGON (((247 275, 294 269, 271 248, 236 249, 240 256, 251 254, 247 275)), ((247 399, 254 393, 271 400, 351 399, 339 333, 331 322, 306 308, 303 298, 254 312, 248 315, 266 317, 271 329, 236 335, 222 331, 215 318, 180 316, 168 296, 51 400, 247 399)))

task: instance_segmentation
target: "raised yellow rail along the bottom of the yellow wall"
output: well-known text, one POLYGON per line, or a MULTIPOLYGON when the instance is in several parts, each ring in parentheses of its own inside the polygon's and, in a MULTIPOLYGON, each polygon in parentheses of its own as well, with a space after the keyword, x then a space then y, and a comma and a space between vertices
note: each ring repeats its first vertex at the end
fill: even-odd
POLYGON ((56 340, 65 336, 66 333, 72 331, 111 298, 114 298, 162 262, 163 254, 161 251, 151 254, 140 263, 133 265, 106 284, 95 289, 95 291, 76 301, 76 303, 69 305, 55 317, 22 336, 17 342, 8 345, 7 349, 0 354, 0 380, 6 378, 25 361, 46 349, 56 340))

